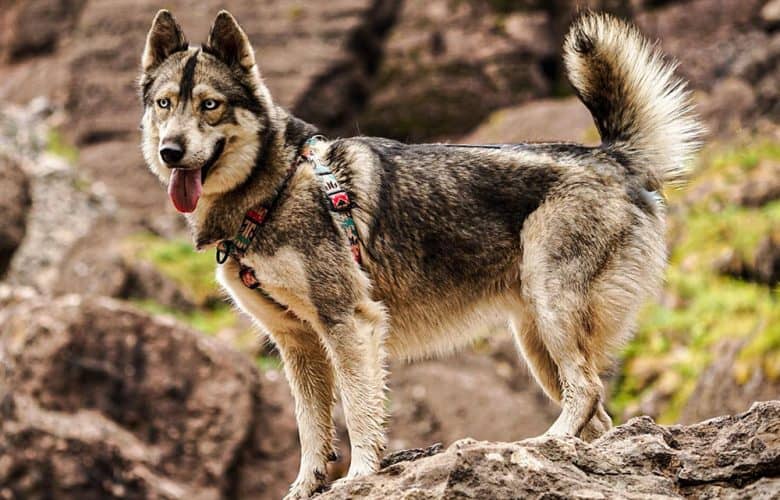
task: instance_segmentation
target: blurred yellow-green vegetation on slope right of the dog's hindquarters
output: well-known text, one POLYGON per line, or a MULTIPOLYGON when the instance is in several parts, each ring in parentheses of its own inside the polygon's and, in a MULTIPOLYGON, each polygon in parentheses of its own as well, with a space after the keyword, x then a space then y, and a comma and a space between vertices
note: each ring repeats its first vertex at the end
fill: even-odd
POLYGON ((777 290, 724 276, 715 263, 726 252, 744 262, 759 241, 780 232, 780 201, 759 208, 729 202, 729 189, 763 160, 780 161, 780 144, 757 141, 702 155, 684 191, 670 193, 673 243, 666 290, 641 315, 624 351, 611 407, 633 414, 652 393, 662 401, 659 421, 674 422, 723 339, 745 339, 733 368, 737 383, 755 369, 780 379, 780 304, 777 290))

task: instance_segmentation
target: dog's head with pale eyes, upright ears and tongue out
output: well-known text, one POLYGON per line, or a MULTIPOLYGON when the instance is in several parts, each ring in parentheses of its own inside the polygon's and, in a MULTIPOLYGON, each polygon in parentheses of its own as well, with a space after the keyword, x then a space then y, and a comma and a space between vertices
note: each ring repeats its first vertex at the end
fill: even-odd
POLYGON ((190 47, 167 10, 141 60, 143 153, 180 212, 250 174, 273 105, 244 31, 221 11, 202 47, 190 47))

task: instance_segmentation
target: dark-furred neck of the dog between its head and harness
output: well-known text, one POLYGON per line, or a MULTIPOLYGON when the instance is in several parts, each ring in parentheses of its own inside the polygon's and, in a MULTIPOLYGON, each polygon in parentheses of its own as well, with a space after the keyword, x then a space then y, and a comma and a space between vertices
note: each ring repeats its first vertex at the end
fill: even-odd
POLYGON ((281 108, 274 111, 275 118, 268 119, 258 138, 261 144, 249 176, 226 193, 204 197, 203 206, 187 217, 197 249, 234 237, 247 210, 270 204, 298 161, 303 143, 317 134, 313 125, 281 108))

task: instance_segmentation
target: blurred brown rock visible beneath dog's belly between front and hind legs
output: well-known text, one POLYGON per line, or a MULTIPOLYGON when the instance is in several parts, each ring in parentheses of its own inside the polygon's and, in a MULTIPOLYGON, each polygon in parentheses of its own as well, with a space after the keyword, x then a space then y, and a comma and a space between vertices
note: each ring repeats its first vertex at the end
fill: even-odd
POLYGON ((523 439, 543 433, 558 408, 528 374, 508 332, 452 358, 396 363, 390 376, 389 449, 463 436, 523 439))

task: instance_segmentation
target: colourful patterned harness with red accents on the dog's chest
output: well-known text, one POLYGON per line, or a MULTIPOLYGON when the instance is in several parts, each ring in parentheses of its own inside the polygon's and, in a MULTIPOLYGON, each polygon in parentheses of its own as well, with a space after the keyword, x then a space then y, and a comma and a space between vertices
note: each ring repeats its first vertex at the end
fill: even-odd
MULTIPOLYGON (((358 265, 361 263, 360 239, 358 238, 355 220, 352 218, 352 201, 350 200, 347 191, 341 187, 336 176, 333 175, 333 172, 330 170, 327 163, 320 159, 315 150, 317 144, 324 140, 325 138, 321 135, 309 138, 304 143, 298 159, 294 161, 287 170, 287 174, 279 188, 277 188, 271 202, 261 205, 258 208, 247 210, 236 236, 229 240, 222 240, 217 244, 217 264, 224 264, 228 257, 236 259, 240 266, 238 276, 247 288, 252 290, 258 289, 260 287, 260 281, 257 279, 255 271, 242 263, 241 259, 246 255, 249 246, 252 244, 252 241, 260 230, 260 226, 265 224, 268 220, 268 216, 278 205, 281 194, 284 192, 287 184, 289 184, 290 179, 295 175, 298 166, 305 162, 311 163, 314 167, 314 173, 319 179, 325 197, 328 199, 328 208, 347 236, 352 258, 358 265)), ((263 290, 260 290, 260 292, 268 296, 263 290)))

